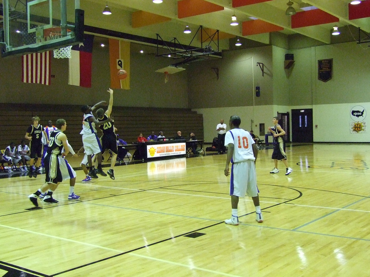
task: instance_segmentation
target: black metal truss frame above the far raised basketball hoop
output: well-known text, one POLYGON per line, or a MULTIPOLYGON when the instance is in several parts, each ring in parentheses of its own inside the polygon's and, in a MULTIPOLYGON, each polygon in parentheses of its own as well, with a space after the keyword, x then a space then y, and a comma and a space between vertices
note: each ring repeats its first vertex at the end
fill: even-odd
POLYGON ((171 55, 171 58, 185 58, 188 61, 190 59, 194 60, 196 56, 203 56, 203 55, 216 55, 221 57, 221 53, 219 52, 219 39, 218 39, 218 30, 215 31, 215 33, 209 35, 205 29, 203 29, 203 26, 199 26, 198 30, 194 34, 194 37, 192 38, 189 45, 183 45, 181 44, 177 38, 174 38, 173 40, 166 42, 164 41, 159 34, 157 34, 157 55, 156 57, 166 57, 168 55, 171 55), (201 47, 196 48, 191 46, 192 42, 194 41, 194 38, 198 34, 198 32, 201 31, 201 47), (203 39, 203 33, 206 34, 206 38, 203 39), (206 42, 209 40, 209 43, 203 47, 203 42, 206 42), (217 50, 213 50, 212 45, 214 45, 217 50), (166 48, 168 52, 165 54, 160 54, 160 50, 166 48))

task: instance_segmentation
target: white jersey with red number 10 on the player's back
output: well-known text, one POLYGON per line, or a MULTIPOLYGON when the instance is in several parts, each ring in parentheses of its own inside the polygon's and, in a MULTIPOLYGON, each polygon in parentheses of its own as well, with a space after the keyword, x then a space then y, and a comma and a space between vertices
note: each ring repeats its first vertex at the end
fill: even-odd
POLYGON ((234 144, 234 153, 231 163, 238 163, 246 160, 255 160, 252 144, 255 143, 250 133, 246 130, 235 128, 226 132, 225 146, 234 144))

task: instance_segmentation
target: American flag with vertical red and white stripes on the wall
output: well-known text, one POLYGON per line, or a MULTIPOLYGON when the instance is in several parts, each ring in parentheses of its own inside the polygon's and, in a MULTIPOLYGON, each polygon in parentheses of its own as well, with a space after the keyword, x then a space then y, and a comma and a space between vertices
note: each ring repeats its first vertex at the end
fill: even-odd
POLYGON ((22 56, 22 82, 50 85, 51 51, 22 56))

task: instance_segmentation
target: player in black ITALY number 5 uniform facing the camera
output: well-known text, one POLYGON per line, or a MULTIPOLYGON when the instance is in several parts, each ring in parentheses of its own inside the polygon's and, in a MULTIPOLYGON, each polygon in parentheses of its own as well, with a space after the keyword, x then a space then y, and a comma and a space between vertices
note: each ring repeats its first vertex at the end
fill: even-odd
POLYGON ((47 143, 49 143, 49 140, 47 139, 47 134, 45 130, 43 129, 43 126, 38 124, 40 121, 40 118, 38 116, 32 117, 32 122, 33 124, 28 127, 26 136, 24 138, 27 138, 27 140, 30 141, 30 171, 28 171, 28 176, 31 178, 37 177, 37 173, 40 169, 40 164, 41 164, 41 155, 43 152, 43 143, 41 141, 43 137, 43 133, 46 137, 47 143), (36 160, 36 168, 33 167, 34 159, 37 156, 36 160))

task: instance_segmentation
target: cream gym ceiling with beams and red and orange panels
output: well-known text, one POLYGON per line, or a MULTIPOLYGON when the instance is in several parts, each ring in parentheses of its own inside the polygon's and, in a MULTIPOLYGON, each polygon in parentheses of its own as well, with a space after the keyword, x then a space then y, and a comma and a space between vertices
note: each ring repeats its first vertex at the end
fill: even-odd
MULTIPOLYGON (((350 5, 350 0, 294 0, 292 7, 297 13, 293 16, 285 14, 287 2, 163 0, 161 4, 155 4, 152 0, 81 0, 81 8, 85 10, 86 25, 153 39, 159 34, 164 41, 176 38, 183 45, 195 47, 200 47, 200 31, 194 36, 200 25, 208 34, 219 30, 219 51, 231 46, 235 48, 236 37, 246 44, 268 45, 272 43, 270 33, 275 33, 282 34, 288 41, 295 37, 309 38, 317 44, 331 44, 356 41, 358 27, 370 33, 370 0, 359 5, 350 5), (106 4, 111 15, 102 14, 106 4), (317 9, 302 10, 311 6, 317 9), (233 14, 239 22, 237 26, 230 25, 233 14), (192 33, 184 34, 186 25, 192 33), (331 34, 335 25, 342 33, 339 36, 331 34), (344 36, 347 38, 343 39, 344 36)), ((205 36, 203 34, 203 40, 205 36)), ((214 44, 212 48, 215 49, 214 44)))

